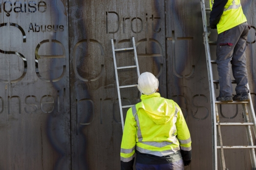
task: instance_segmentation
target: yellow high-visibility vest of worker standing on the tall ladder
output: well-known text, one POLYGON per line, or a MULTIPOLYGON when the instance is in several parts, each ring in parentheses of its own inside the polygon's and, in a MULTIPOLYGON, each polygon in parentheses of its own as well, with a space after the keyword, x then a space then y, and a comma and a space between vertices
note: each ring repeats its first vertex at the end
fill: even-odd
MULTIPOLYGON (((214 0, 210 0, 210 10, 214 0)), ((224 7, 223 14, 221 15, 220 21, 217 24, 218 34, 229 30, 233 27, 240 25, 241 23, 247 21, 240 0, 228 0, 224 7)))

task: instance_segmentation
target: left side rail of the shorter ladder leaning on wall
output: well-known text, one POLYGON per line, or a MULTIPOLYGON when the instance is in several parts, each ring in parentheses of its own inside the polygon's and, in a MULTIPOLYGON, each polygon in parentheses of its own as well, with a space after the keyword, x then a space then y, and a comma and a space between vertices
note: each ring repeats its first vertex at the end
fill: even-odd
POLYGON ((115 46, 114 46, 113 39, 111 39, 111 43, 112 43, 112 51, 113 51, 115 74, 116 74, 116 86, 117 86, 118 102, 119 102, 119 108, 120 108, 121 124, 122 124, 122 130, 123 130, 123 127, 124 127, 123 110, 122 110, 122 102, 121 102, 121 95, 120 95, 120 89, 119 89, 119 81, 118 81, 117 66, 116 66, 116 54, 115 54, 115 46))

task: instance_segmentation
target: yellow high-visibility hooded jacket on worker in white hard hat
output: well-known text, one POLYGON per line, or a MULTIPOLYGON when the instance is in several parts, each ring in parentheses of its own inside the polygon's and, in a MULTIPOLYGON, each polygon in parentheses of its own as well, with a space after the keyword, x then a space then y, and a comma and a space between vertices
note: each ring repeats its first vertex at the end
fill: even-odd
POLYGON ((159 93, 141 95, 141 102, 127 111, 121 161, 133 160, 135 149, 140 153, 165 156, 191 150, 190 134, 180 107, 161 98, 159 93))

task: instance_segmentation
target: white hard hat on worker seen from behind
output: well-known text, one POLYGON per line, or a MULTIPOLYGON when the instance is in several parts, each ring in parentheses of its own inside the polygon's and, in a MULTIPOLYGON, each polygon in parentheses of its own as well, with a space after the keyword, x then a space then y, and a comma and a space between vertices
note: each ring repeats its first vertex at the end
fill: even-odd
POLYGON ((150 95, 157 91, 158 79, 150 72, 143 72, 138 78, 138 89, 141 93, 150 95))

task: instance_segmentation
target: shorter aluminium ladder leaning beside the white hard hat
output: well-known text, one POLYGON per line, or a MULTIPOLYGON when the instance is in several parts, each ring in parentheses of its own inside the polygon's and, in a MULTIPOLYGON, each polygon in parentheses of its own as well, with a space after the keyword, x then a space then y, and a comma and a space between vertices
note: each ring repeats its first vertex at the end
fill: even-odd
POLYGON ((137 68, 137 75, 138 75, 138 77, 140 76, 140 70, 139 70, 138 57, 137 57, 136 44, 135 44, 134 37, 132 37, 132 41, 133 41, 133 47, 115 49, 114 40, 111 39, 112 51, 113 51, 113 58, 114 58, 114 66, 115 66, 115 75, 116 75, 116 86, 117 86, 118 101, 119 101, 119 108, 120 108, 120 115, 121 115, 122 130, 123 130, 123 126, 124 126, 124 122, 123 122, 123 110, 122 110, 122 109, 123 109, 123 108, 129 108, 129 107, 132 107, 132 106, 134 106, 134 105, 122 106, 121 95, 120 95, 120 88, 137 87, 137 84, 134 84, 134 85, 126 85, 126 86, 119 86, 117 70, 118 70, 118 69, 127 69, 127 68, 137 68), (117 67, 117 64, 116 64, 116 52, 127 52, 127 51, 131 51, 131 50, 134 51, 135 65, 132 65, 132 66, 124 66, 124 67, 117 67))

